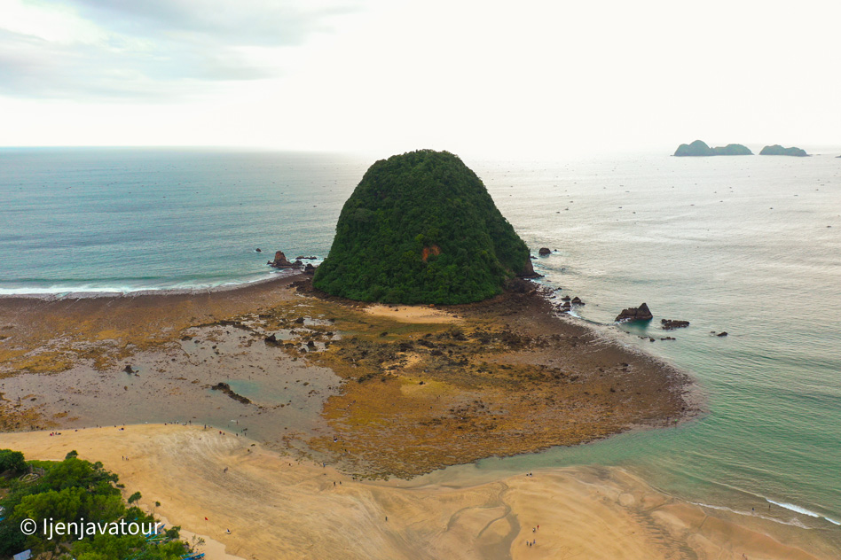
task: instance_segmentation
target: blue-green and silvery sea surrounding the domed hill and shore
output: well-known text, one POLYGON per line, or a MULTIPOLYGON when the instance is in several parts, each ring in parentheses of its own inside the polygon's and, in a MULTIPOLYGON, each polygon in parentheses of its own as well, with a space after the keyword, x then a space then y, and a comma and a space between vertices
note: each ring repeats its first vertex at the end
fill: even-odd
MULTIPOLYGON (((689 502, 762 511, 841 542, 839 153, 466 158, 532 253, 553 250, 534 261, 540 282, 584 299, 582 321, 687 371, 704 400, 703 415, 674 428, 476 466, 617 465, 689 502), (613 323, 642 302, 653 322, 613 323), (667 332, 661 318, 691 324, 667 332), (728 336, 713 334, 721 331, 728 336)), ((276 250, 326 256, 342 204, 372 163, 221 149, 0 149, 0 294, 270 277, 276 250)))

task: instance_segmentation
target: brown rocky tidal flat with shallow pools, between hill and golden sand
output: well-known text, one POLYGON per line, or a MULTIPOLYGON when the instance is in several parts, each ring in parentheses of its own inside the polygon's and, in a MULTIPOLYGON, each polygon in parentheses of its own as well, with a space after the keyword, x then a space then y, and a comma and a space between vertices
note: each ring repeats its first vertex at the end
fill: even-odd
POLYGON ((192 419, 378 478, 688 413, 686 377, 555 316, 535 289, 372 310, 295 279, 193 295, 0 301, 0 323, 29 333, 4 348, 3 390, 17 403, 43 389, 38 410, 0 408, 18 416, 17 429, 192 419), (49 378, 35 376, 28 364, 49 362, 53 347, 65 360, 49 378), (122 372, 124 362, 138 372, 122 372), (220 382, 252 402, 209 389, 220 382))

